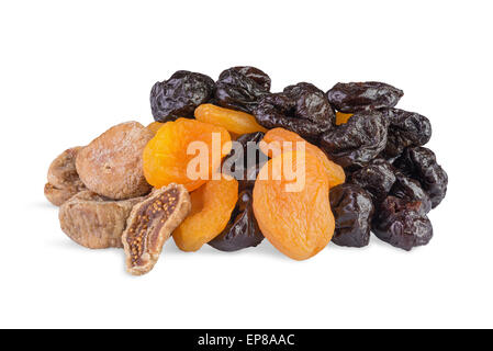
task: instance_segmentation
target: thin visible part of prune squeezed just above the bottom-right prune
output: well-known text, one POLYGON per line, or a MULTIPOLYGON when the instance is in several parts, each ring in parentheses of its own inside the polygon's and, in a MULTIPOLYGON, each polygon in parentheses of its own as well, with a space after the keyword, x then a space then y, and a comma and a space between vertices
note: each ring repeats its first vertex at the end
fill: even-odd
POLYGON ((423 214, 427 214, 432 210, 432 200, 419 182, 406 177, 399 170, 395 170, 395 183, 389 194, 408 202, 421 202, 423 214))

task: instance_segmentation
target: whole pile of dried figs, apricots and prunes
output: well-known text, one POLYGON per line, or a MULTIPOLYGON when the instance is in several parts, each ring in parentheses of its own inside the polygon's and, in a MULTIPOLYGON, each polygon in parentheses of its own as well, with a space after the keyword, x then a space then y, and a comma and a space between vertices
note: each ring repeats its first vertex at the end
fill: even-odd
POLYGON ((181 70, 154 84, 155 122, 113 126, 49 166, 45 195, 61 230, 88 248, 123 248, 136 275, 170 236, 183 251, 267 238, 295 260, 330 240, 365 247, 371 231, 404 250, 428 244, 448 177, 424 147, 428 118, 395 109, 403 91, 270 84, 245 66, 215 82, 181 70))

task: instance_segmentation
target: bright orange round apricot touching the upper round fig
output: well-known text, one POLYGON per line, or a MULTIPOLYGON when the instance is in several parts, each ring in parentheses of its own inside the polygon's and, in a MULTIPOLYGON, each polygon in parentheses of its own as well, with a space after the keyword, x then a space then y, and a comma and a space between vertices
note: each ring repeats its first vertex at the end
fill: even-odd
POLYGON ((211 179, 212 172, 221 166, 221 159, 229 150, 231 137, 225 128, 178 118, 165 123, 146 145, 143 154, 144 176, 154 188, 177 183, 193 191, 211 179), (213 145, 213 140, 217 143, 213 145), (187 152, 189 147, 194 154, 187 152))

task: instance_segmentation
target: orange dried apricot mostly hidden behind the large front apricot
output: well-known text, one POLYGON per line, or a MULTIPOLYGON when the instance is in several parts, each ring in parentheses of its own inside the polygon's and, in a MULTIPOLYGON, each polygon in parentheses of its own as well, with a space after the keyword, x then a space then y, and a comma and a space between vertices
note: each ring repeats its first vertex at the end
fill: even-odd
MULTIPOLYGON (((266 144, 260 143, 259 145, 260 149, 262 150, 264 154, 266 154, 269 157, 278 156, 283 151, 290 151, 290 149, 284 150, 283 141, 305 143, 305 151, 316 156, 318 161, 321 161, 322 165, 324 165, 326 173, 328 176, 328 184, 330 188, 334 188, 346 181, 346 174, 344 173, 343 167, 330 161, 324 151, 322 151, 315 145, 310 144, 309 141, 303 139, 296 133, 290 132, 284 128, 273 128, 266 133, 262 141, 265 141, 266 144)), ((292 145, 292 150, 294 151, 295 149, 296 145, 294 144, 292 145)))

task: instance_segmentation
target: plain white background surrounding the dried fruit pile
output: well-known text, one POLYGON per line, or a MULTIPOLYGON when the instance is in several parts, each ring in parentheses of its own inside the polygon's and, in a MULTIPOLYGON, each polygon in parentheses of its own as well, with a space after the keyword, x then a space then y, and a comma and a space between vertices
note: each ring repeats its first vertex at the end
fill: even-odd
POLYGON ((493 327, 491 1, 2 1, 0 327, 493 327), (172 240, 149 274, 89 250, 43 195, 64 149, 152 122, 150 87, 178 69, 253 65, 274 91, 381 80, 428 116, 449 174, 435 237, 372 238, 296 262, 267 240, 223 253, 172 240))

